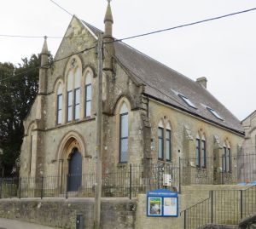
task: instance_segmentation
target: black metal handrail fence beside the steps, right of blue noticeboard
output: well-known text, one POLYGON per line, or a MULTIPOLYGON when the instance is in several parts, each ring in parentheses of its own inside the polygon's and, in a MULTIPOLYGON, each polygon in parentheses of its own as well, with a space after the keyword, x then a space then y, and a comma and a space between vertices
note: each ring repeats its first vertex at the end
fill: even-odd
POLYGON ((209 198, 185 209, 183 228, 195 229, 206 224, 237 225, 256 212, 256 186, 245 190, 214 190, 209 198))

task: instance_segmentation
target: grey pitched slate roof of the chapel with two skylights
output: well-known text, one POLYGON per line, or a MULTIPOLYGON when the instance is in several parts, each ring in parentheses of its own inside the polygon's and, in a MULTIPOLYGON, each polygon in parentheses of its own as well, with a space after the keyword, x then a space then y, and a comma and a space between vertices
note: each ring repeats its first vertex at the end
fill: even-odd
MULTIPOLYGON (((82 23, 96 36, 102 32, 84 21, 82 23)), ((184 112, 189 112, 196 117, 201 117, 211 123, 243 134, 241 122, 199 83, 148 57, 137 49, 131 48, 131 46, 125 43, 114 42, 113 44, 115 57, 131 73, 132 77, 137 80, 137 83, 145 85, 145 94, 155 100, 175 106, 184 112), (186 96, 197 109, 189 106, 177 94, 186 96), (223 120, 209 112, 207 106, 217 112, 223 120)))

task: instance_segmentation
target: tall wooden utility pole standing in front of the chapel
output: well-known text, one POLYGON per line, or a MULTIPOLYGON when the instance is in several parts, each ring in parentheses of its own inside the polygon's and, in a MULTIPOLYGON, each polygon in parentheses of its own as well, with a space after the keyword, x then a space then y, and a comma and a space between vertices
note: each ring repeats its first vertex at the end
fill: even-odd
POLYGON ((94 202, 94 229, 100 228, 101 198, 102 198, 102 34, 98 37, 97 47, 98 80, 97 80, 97 108, 96 108, 96 192, 94 202))

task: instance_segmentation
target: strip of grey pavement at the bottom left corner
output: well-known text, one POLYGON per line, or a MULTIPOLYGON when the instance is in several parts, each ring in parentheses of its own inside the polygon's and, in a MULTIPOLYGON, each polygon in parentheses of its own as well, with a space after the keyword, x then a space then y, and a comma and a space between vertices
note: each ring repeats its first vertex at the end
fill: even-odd
POLYGON ((0 229, 57 229, 57 228, 38 225, 34 223, 28 223, 24 221, 0 218, 0 229))

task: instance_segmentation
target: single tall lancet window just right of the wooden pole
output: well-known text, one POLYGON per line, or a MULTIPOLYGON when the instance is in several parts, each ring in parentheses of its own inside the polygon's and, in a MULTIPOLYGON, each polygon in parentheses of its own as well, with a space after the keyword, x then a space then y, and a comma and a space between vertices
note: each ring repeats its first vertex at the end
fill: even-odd
POLYGON ((128 108, 123 102, 119 113, 119 163, 127 163, 128 135, 128 108))

